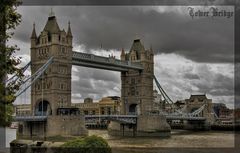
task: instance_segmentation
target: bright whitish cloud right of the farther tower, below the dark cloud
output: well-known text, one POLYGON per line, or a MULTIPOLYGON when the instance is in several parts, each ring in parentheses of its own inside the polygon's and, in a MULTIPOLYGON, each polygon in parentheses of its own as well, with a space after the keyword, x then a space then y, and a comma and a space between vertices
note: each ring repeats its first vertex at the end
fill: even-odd
MULTIPOLYGON (((158 60, 161 58, 158 57, 158 60)), ((227 68, 226 65, 225 69, 227 68)), ((233 67, 229 66, 229 68, 233 67)), ((160 84, 174 101, 189 98, 191 94, 207 94, 213 98, 213 102, 226 103, 232 107, 234 78, 233 74, 228 74, 229 72, 223 70, 220 73, 210 64, 196 62, 188 64, 183 62, 173 66, 169 66, 167 62, 160 62, 155 69, 160 84)))

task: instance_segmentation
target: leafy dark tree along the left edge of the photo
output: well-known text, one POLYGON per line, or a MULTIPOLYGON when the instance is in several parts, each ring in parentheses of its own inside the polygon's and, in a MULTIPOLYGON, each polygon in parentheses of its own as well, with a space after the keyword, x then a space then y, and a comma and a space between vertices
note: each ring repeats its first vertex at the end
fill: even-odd
POLYGON ((14 35, 13 30, 21 22, 21 15, 17 13, 19 0, 0 0, 0 126, 11 123, 12 103, 14 94, 22 83, 23 73, 18 67, 21 60, 14 56, 19 48, 16 45, 7 45, 14 35), (6 84, 8 75, 16 74, 20 79, 6 84))

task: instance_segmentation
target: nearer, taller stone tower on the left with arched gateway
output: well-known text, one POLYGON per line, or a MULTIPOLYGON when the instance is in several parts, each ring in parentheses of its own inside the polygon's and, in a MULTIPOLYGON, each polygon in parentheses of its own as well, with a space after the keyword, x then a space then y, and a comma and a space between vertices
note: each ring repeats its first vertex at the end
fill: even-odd
POLYGON ((71 105, 72 33, 61 30, 53 13, 37 36, 35 25, 31 35, 31 72, 34 74, 53 57, 41 79, 31 88, 33 115, 56 115, 57 108, 71 105))

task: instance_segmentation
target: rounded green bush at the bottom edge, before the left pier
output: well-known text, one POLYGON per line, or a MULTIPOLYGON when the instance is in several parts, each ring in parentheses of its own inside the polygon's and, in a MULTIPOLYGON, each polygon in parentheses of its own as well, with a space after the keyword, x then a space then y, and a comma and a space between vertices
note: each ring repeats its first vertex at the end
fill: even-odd
POLYGON ((64 143, 58 152, 61 153, 111 153, 107 141, 98 136, 77 138, 64 143))

